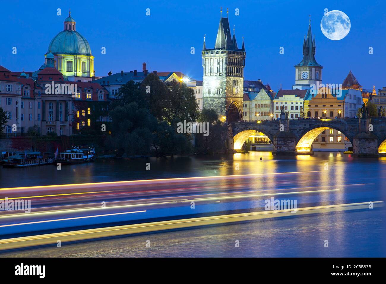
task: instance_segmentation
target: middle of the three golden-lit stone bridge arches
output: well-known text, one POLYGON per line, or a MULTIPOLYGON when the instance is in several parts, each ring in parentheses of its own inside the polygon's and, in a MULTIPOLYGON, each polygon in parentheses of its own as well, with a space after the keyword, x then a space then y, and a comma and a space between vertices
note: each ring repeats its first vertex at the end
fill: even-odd
POLYGON ((335 125, 328 125, 328 124, 318 124, 315 126, 312 126, 305 131, 303 131, 300 136, 298 137, 298 141, 296 141, 296 151, 297 152, 311 152, 312 151, 312 143, 319 136, 320 133, 327 129, 335 129, 337 131, 340 131, 342 135, 346 136, 347 139, 349 139, 350 143, 353 144, 353 138, 349 135, 345 134, 344 129, 340 129, 336 127, 335 125))

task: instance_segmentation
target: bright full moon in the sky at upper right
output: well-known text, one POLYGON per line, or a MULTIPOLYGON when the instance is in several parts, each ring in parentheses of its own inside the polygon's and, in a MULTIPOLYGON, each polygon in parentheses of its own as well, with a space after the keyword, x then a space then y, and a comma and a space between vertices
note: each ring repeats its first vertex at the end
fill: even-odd
POLYGON ((323 34, 333 41, 339 41, 349 34, 351 22, 342 11, 333 10, 327 12, 320 21, 320 29, 323 34))

